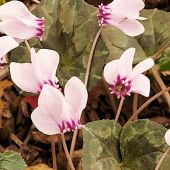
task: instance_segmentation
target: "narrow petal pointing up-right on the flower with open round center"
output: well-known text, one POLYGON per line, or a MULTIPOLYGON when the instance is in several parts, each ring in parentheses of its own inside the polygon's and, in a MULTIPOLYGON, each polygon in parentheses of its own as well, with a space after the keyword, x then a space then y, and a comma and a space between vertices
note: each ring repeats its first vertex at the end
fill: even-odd
POLYGON ((152 58, 145 59, 141 61, 139 64, 137 64, 133 70, 132 73, 130 73, 129 78, 132 80, 139 74, 145 72, 146 70, 149 70, 154 65, 154 60, 152 58))

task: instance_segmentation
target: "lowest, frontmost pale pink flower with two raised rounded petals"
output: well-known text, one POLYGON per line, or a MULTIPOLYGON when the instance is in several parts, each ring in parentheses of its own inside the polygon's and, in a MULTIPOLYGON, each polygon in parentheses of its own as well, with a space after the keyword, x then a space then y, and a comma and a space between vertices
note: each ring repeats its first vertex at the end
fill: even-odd
POLYGON ((38 107, 31 114, 37 129, 47 135, 63 134, 81 128, 80 116, 87 104, 87 90, 77 77, 60 90, 44 85, 38 99, 38 107))

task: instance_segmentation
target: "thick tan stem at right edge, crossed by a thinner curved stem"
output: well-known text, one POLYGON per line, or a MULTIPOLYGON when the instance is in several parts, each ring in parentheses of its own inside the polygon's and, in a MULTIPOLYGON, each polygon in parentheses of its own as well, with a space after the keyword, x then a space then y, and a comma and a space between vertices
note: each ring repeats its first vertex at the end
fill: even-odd
MULTIPOLYGON (((165 86, 165 84, 164 84, 164 82, 163 82, 163 80, 162 80, 162 78, 161 78, 161 76, 160 76, 160 74, 158 72, 158 69, 157 69, 156 65, 151 68, 151 72, 152 72, 156 82, 158 83, 159 87, 161 88, 161 90, 165 89, 166 86, 165 86)), ((164 93, 163 97, 166 100, 166 102, 168 104, 168 107, 170 108, 170 95, 169 95, 169 92, 164 93)))

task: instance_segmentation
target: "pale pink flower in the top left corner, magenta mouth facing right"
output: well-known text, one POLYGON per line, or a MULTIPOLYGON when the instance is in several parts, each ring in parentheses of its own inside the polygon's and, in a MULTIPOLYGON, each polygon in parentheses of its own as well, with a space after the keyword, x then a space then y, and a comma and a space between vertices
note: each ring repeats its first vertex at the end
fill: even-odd
POLYGON ((44 18, 37 18, 20 1, 0 6, 0 32, 17 39, 42 38, 44 18))

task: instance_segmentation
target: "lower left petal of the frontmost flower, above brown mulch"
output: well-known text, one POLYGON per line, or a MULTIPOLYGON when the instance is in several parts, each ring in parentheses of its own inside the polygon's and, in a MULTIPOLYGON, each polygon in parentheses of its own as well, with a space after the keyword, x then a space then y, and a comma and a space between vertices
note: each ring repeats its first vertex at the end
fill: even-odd
POLYGON ((55 135, 60 133, 57 122, 51 115, 47 115, 41 107, 36 108, 31 114, 31 119, 35 127, 42 133, 47 135, 55 135))

